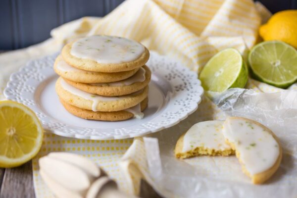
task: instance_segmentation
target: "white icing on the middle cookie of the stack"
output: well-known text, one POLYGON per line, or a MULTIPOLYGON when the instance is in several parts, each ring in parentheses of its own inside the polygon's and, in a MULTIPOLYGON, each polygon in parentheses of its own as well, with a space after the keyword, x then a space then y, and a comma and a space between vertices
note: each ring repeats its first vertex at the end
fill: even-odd
POLYGON ((102 87, 120 87, 120 86, 128 86, 137 82, 144 82, 146 80, 146 70, 144 68, 140 68, 133 76, 127 78, 125 80, 111 82, 111 83, 91 83, 91 85, 102 86, 102 87))

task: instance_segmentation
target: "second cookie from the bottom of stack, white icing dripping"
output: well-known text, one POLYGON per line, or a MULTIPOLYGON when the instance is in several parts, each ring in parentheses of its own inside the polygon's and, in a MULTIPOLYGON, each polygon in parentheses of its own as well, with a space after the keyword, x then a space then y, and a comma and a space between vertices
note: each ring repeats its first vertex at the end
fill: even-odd
POLYGON ((79 90, 66 83, 61 77, 56 82, 55 90, 59 98, 65 102, 93 111, 120 111, 135 106, 148 97, 148 86, 133 94, 106 97, 79 90))

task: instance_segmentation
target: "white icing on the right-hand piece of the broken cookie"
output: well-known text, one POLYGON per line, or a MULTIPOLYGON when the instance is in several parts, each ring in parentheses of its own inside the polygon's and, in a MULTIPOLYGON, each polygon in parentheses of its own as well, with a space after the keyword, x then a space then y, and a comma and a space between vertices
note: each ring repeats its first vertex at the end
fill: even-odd
POLYGON ((268 170, 280 154, 279 145, 273 136, 248 120, 227 118, 223 134, 235 145, 242 163, 251 175, 268 170))

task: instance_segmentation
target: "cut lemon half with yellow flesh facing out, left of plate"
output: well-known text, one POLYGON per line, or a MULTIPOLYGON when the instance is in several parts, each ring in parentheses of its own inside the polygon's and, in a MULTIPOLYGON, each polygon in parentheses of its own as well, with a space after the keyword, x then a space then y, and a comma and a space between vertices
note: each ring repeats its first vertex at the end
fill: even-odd
POLYGON ((0 101, 0 167, 19 166, 32 159, 42 145, 43 128, 23 104, 0 101))

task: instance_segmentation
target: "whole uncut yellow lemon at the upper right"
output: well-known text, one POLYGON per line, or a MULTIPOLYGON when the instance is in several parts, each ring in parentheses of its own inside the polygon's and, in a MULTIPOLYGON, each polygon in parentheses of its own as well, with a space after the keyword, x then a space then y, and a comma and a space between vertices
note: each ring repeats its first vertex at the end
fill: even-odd
POLYGON ((259 29, 264 41, 281 40, 297 48, 297 10, 284 10, 275 13, 259 29))

